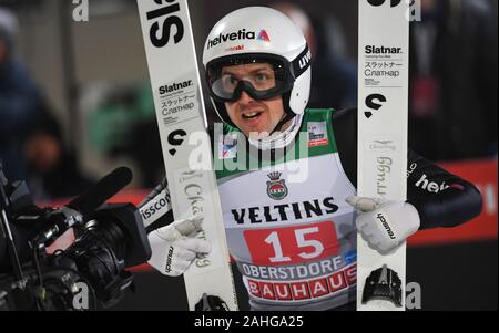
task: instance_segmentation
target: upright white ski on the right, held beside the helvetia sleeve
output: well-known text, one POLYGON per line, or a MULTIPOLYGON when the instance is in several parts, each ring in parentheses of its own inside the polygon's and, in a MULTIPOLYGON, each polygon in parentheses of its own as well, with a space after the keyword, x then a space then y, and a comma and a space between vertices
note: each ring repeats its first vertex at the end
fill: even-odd
MULTIPOLYGON (((406 200, 409 20, 401 0, 360 0, 358 196, 406 200)), ((387 254, 357 233, 357 310, 404 311, 406 243, 387 254)))

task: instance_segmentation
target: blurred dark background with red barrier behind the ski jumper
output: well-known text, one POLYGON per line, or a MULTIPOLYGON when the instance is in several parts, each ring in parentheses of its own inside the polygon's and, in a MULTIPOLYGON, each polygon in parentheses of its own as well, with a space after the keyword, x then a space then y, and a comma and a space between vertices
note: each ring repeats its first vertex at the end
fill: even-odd
MULTIPOLYGON (((138 202, 163 158, 136 3, 88 3, 89 20, 74 21, 73 1, 0 0, 0 159, 43 202, 125 165, 135 177, 120 199, 138 202)), ((191 0, 200 64, 211 27, 246 6, 275 7, 303 29, 309 106, 356 106, 357 1, 191 0)), ((497 310, 497 12, 495 0, 421 0, 410 25, 410 147, 485 197, 476 220, 410 240, 407 281, 421 284, 424 310, 497 310)), ((138 293, 115 309, 185 309, 181 279, 139 271, 138 293)))

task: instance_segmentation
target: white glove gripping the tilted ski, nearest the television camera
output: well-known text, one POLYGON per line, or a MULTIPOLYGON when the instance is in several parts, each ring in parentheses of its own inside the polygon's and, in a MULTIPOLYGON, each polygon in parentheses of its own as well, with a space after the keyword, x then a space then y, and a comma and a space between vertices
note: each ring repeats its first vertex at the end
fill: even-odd
POLYGON ((147 236, 152 249, 149 263, 162 274, 182 275, 198 253, 212 250, 208 241, 196 238, 202 231, 202 221, 203 218, 196 216, 151 231, 147 236))

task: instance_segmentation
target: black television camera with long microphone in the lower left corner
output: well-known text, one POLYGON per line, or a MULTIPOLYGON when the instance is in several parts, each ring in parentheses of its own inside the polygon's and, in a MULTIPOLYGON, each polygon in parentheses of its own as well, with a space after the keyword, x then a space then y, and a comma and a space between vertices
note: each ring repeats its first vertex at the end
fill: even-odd
POLYGON ((0 163, 0 310, 94 310, 124 295, 125 269, 145 262, 151 248, 135 206, 104 202, 131 178, 118 168, 67 206, 39 208, 0 163), (70 228, 75 241, 49 254, 70 228))

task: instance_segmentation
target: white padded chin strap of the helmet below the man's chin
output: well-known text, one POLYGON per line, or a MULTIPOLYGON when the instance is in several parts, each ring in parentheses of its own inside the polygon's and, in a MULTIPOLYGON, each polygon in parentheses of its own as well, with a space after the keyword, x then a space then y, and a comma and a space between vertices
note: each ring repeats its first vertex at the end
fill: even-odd
POLYGON ((303 114, 289 115, 286 114, 283 119, 277 123, 275 129, 266 137, 259 138, 249 135, 249 144, 259 150, 279 149, 289 145, 302 126, 303 114), (285 123, 293 119, 291 126, 283 132, 278 132, 285 123))

